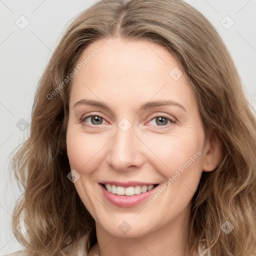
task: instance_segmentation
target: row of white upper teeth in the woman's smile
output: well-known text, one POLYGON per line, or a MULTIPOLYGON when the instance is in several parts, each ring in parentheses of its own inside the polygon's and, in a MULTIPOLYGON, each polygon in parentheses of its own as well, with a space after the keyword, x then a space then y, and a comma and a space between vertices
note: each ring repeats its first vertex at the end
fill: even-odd
POLYGON ((146 191, 151 190, 154 186, 153 185, 144 185, 144 186, 129 186, 129 187, 123 187, 123 186, 115 186, 110 184, 105 184, 105 187, 108 192, 118 195, 134 195, 134 194, 140 194, 144 193, 146 191))

